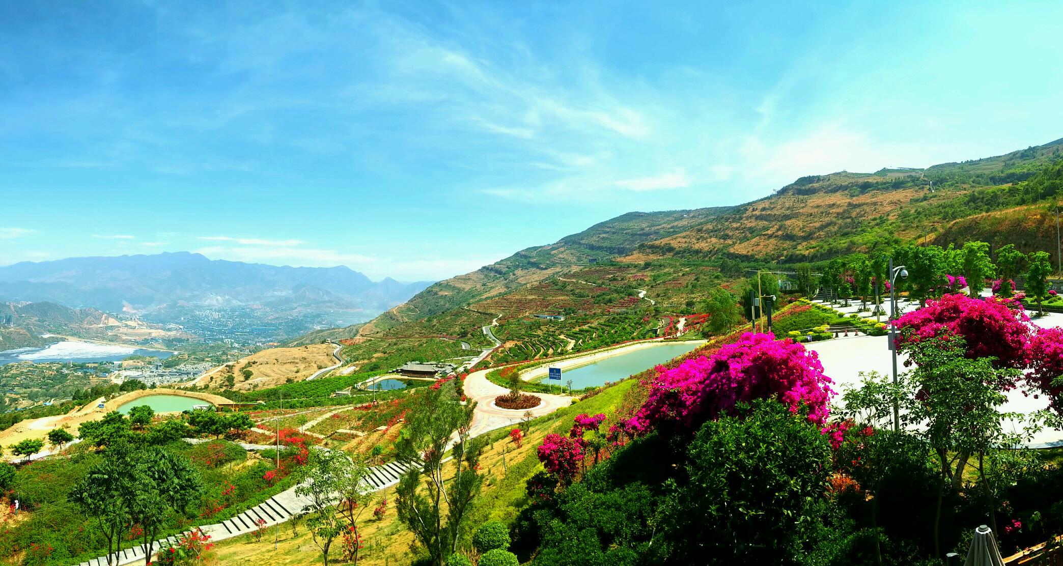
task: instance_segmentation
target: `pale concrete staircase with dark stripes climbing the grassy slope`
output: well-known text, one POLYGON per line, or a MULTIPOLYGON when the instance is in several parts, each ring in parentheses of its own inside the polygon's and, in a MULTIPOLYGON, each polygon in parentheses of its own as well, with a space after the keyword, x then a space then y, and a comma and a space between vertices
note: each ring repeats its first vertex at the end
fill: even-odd
MULTIPOLYGON (((373 492, 390 487, 399 483, 399 478, 403 474, 419 465, 417 462, 388 462, 381 466, 372 466, 369 468, 367 487, 373 492)), ((296 495, 296 487, 289 487, 239 515, 215 525, 203 526, 201 529, 204 533, 210 535, 210 541, 224 541, 225 538, 253 532, 258 529, 259 521, 261 521, 260 525, 263 528, 285 522, 292 515, 302 513, 303 508, 308 503, 309 498, 296 495)), ((176 542, 176 537, 169 536, 155 541, 152 552, 157 552, 159 545, 164 541, 173 544, 176 542)), ((133 564, 134 562, 142 562, 144 555, 145 549, 142 546, 128 548, 115 553, 112 565, 120 566, 133 564)), ((107 566, 107 558, 91 559, 87 562, 82 562, 79 566, 107 566)))

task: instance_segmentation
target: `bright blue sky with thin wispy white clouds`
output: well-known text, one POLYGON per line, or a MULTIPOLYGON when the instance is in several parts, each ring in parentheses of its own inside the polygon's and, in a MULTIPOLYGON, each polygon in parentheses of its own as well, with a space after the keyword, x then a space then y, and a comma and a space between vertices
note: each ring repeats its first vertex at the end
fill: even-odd
POLYGON ((630 210, 1063 137, 1058 2, 730 4, 5 2, 0 264, 438 279, 630 210))

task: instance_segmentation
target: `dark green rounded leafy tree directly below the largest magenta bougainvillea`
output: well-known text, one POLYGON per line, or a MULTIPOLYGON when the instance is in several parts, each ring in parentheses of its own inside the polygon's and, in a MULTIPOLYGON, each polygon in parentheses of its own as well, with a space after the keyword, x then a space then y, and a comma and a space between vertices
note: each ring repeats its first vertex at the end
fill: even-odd
POLYGON ((689 480, 662 503, 672 564, 787 564, 819 524, 830 446, 782 405, 702 426, 687 448, 689 480))

